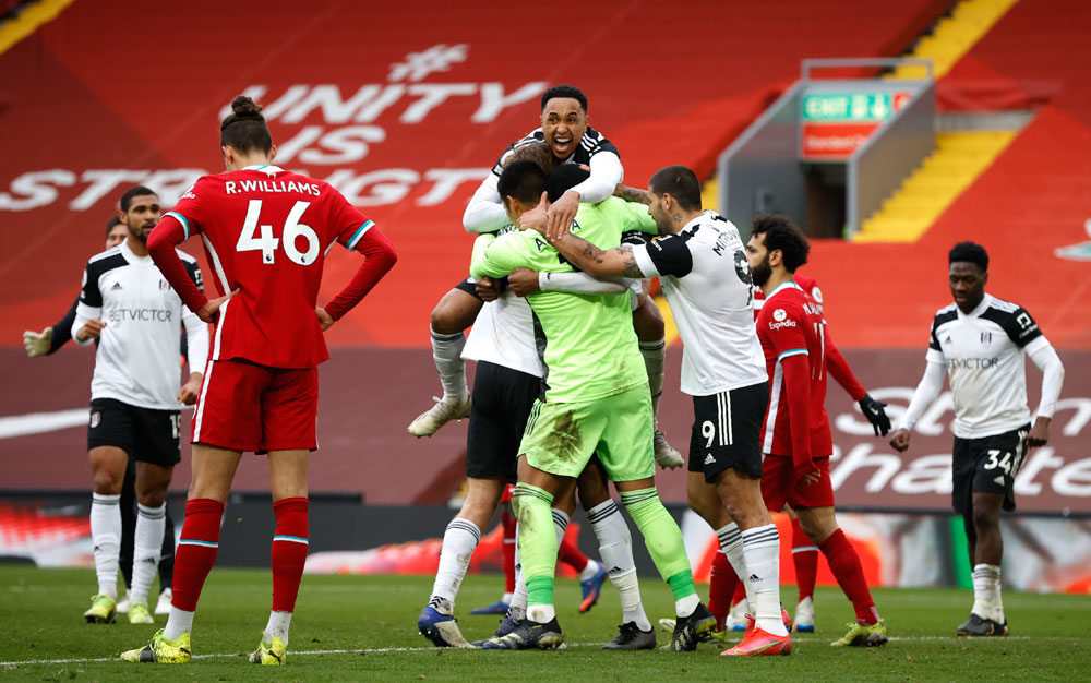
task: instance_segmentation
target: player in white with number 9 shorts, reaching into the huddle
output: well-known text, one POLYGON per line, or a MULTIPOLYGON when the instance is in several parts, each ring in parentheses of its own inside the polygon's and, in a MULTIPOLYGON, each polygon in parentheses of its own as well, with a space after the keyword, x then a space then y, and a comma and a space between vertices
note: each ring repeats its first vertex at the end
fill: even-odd
POLYGON ((746 252, 735 226, 702 211, 692 170, 668 166, 648 185, 648 213, 664 237, 607 251, 571 235, 553 244, 590 275, 660 278, 685 345, 682 391, 694 404, 690 505, 716 530, 739 576, 747 577, 755 610, 754 627, 724 655, 787 655, 792 645, 780 610, 780 537, 762 500, 759 433, 769 387, 746 252))

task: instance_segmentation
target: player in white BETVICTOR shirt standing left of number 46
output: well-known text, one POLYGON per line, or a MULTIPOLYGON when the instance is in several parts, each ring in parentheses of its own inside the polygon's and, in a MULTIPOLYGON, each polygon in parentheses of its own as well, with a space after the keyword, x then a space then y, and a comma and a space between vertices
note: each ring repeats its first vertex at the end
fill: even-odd
MULTIPOLYGON (((116 619, 120 494, 131 454, 136 460, 137 517, 129 621, 153 623, 147 591, 159 563, 167 487, 181 460, 179 404, 196 400, 202 380, 200 372, 192 372, 179 390, 179 321, 185 327, 191 369, 204 368, 208 328, 182 304, 147 255, 147 236, 160 216, 155 193, 144 187, 127 190, 119 215, 129 237, 87 262, 72 324, 72 337, 80 346, 99 340, 87 429, 98 595, 84 619, 91 623, 116 619)), ((200 286, 196 261, 179 254, 200 286)))

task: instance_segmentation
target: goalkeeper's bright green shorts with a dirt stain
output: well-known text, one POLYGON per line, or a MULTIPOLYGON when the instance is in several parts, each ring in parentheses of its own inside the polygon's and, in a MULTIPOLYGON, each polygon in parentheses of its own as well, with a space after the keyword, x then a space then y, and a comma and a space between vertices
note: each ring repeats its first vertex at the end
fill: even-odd
POLYGON ((611 481, 656 474, 655 422, 647 385, 587 403, 535 402, 519 453, 533 467, 577 477, 598 454, 611 481))

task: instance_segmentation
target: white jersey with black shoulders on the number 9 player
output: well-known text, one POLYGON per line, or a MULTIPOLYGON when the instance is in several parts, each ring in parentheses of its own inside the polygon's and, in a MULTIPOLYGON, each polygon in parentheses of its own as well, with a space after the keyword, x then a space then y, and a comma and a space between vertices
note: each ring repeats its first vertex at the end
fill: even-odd
POLYGON ((705 212, 675 235, 634 245, 633 254, 671 305, 685 345, 683 392, 710 396, 768 381, 746 251, 730 220, 705 212))

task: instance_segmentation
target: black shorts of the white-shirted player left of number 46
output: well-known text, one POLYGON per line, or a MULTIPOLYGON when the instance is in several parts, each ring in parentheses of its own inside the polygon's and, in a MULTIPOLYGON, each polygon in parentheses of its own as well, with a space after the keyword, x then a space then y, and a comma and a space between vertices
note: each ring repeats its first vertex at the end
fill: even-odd
POLYGON ((182 460, 178 447, 178 410, 137 408, 113 398, 91 402, 87 450, 116 446, 141 463, 173 467, 182 460))

